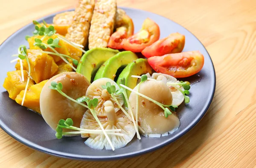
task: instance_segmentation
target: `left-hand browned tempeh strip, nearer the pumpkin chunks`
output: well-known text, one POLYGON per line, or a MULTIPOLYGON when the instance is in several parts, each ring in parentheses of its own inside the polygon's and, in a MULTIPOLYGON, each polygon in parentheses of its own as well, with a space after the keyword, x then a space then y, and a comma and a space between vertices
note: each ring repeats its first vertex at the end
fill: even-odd
POLYGON ((79 0, 79 6, 75 9, 73 22, 67 29, 66 38, 68 40, 82 46, 87 44, 93 9, 94 0, 79 0))

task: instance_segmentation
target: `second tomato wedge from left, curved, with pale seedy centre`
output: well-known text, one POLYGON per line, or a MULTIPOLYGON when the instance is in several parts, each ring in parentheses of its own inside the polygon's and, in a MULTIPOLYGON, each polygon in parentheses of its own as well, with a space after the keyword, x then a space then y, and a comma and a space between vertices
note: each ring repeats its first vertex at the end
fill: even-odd
POLYGON ((139 32, 122 41, 122 48, 132 52, 142 52, 146 46, 150 46, 159 38, 159 26, 153 20, 147 18, 139 32))

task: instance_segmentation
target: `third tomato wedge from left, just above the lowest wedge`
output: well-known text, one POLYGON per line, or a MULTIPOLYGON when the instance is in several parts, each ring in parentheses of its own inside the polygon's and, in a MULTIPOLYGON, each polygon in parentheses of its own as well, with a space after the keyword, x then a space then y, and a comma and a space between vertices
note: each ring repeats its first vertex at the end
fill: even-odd
POLYGON ((182 52, 185 45, 185 36, 180 33, 172 33, 168 37, 160 39, 143 49, 146 57, 162 56, 170 53, 182 52))

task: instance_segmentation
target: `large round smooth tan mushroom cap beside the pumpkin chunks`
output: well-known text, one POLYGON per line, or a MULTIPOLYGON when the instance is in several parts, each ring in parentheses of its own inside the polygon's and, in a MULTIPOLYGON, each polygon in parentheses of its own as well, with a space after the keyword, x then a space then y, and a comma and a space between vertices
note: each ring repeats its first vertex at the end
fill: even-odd
MULTIPOLYGON (((76 72, 63 72, 53 76, 44 85, 40 95, 40 109, 42 116, 47 124, 55 130, 60 119, 71 118, 75 127, 79 127, 81 119, 87 108, 62 96, 57 90, 49 88, 51 82, 61 82, 62 91, 73 99, 84 96, 90 83, 76 72)), ((70 131, 63 129, 63 131, 70 131)))

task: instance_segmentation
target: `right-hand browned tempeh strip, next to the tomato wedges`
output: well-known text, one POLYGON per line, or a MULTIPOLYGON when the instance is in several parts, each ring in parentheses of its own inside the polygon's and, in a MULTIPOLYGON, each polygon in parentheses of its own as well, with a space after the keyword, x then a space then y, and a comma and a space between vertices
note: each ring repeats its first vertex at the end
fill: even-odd
POLYGON ((95 4, 89 32, 89 49, 107 47, 113 33, 116 0, 98 0, 95 4))

